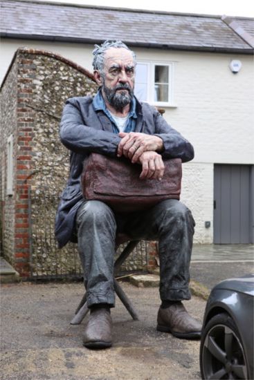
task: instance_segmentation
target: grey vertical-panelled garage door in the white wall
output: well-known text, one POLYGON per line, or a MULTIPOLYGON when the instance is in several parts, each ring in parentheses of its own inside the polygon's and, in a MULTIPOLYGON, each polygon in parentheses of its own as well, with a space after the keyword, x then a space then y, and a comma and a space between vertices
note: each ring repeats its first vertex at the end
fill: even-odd
POLYGON ((215 244, 253 243, 252 172, 251 165, 215 164, 215 244))

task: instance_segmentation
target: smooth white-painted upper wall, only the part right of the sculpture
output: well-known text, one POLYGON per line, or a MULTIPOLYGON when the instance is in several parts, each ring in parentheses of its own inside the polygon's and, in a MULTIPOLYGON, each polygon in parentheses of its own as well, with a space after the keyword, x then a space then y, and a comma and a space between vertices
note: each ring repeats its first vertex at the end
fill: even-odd
POLYGON ((195 146, 194 162, 254 162, 254 66, 251 55, 137 51, 139 59, 174 61, 174 103, 165 117, 195 146), (228 65, 242 61, 234 75, 228 65))

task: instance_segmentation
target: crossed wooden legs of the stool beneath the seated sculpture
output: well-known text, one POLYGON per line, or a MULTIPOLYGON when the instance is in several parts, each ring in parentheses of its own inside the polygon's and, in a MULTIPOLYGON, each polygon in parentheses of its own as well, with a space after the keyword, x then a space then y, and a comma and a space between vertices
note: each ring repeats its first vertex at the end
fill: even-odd
MULTIPOLYGON (((120 244, 127 243, 130 238, 125 234, 118 234, 116 236, 116 250, 118 249, 120 244)), ((124 261, 127 259, 129 254, 133 251, 133 249, 138 245, 139 240, 131 240, 129 241, 127 247, 123 249, 120 256, 116 259, 114 263, 114 273, 116 274, 117 270, 120 268, 120 266, 124 263, 124 261)), ((126 309, 128 310, 129 314, 131 314, 132 318, 136 321, 138 320, 138 314, 134 310, 134 307, 131 304, 131 301, 123 291, 123 289, 120 287, 118 282, 116 281, 116 278, 114 278, 114 289, 118 297, 120 298, 120 301, 122 301, 123 305, 125 305, 126 309)), ((77 310, 75 311, 75 316, 73 317, 71 321, 71 325, 79 325, 84 317, 89 312, 89 308, 87 307, 87 292, 85 292, 82 300, 80 301, 80 305, 78 305, 77 310)))

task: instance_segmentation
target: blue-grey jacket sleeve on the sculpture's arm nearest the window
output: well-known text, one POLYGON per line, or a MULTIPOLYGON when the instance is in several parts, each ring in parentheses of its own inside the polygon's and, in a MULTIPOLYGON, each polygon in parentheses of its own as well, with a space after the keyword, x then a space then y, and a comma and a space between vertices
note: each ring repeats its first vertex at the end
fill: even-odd
POLYGON ((158 111, 154 113, 155 133, 163 140, 164 158, 181 158, 182 162, 188 162, 194 158, 192 144, 181 133, 173 129, 158 111))

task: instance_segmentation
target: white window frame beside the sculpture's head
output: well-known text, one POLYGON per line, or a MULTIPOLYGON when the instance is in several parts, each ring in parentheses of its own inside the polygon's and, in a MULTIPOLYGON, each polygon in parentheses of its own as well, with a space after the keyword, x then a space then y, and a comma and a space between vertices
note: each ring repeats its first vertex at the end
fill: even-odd
POLYGON ((174 104, 174 62, 137 61, 137 64, 145 64, 147 66, 147 99, 143 100, 143 102, 147 102, 152 106, 176 107, 176 104, 174 104), (168 67, 168 102, 154 101, 155 66, 168 67))

